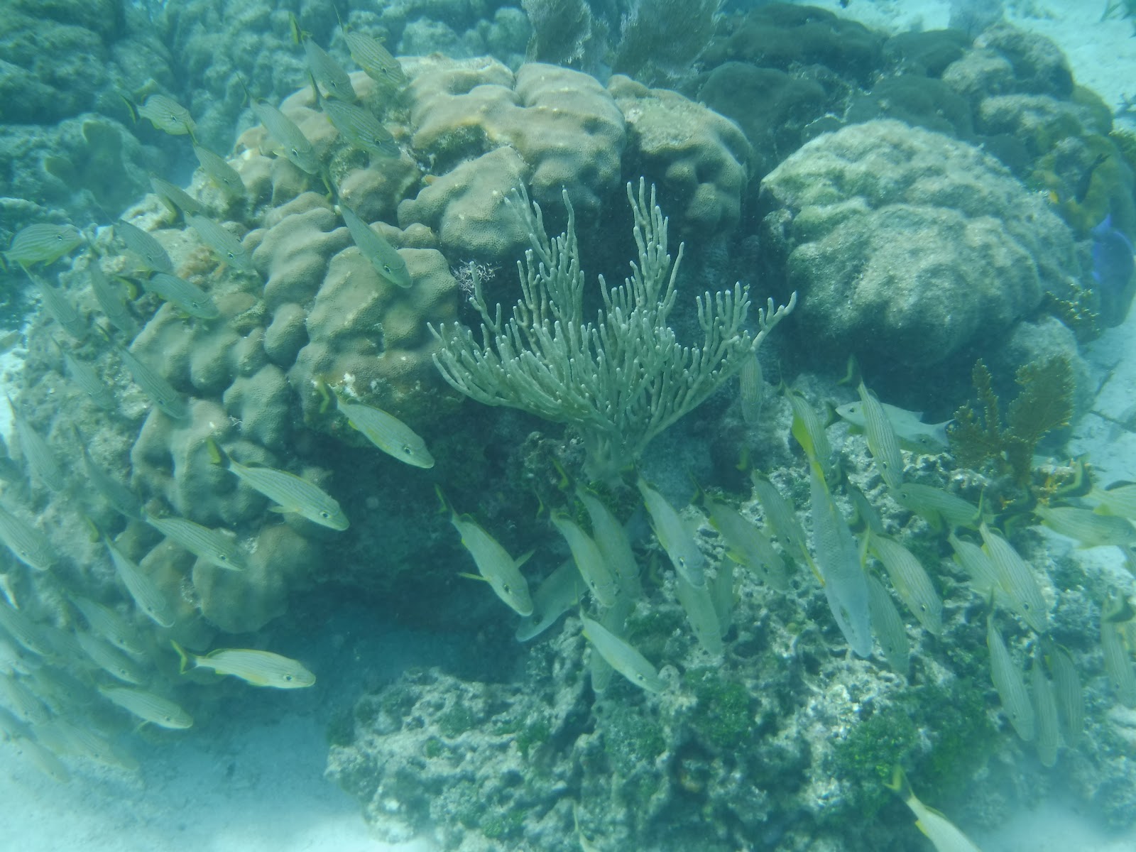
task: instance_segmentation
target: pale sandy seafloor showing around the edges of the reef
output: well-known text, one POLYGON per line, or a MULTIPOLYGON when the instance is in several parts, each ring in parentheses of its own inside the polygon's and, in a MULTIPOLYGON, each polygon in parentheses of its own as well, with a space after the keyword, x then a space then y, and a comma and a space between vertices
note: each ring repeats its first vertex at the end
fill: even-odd
MULTIPOLYGON (((850 0, 846 9, 837 0, 813 5, 897 31, 942 27, 950 16, 944 0, 850 0)), ((1056 41, 1077 81, 1106 102, 1119 107, 1125 95, 1136 95, 1136 37, 1126 22, 1100 20, 1105 0, 1008 5, 1011 20, 1056 41)), ((1091 345, 1089 360, 1100 386, 1094 411, 1126 414, 1136 399, 1136 311, 1091 345)), ((0 374, 12 369, 12 354, 3 361, 0 374)), ((0 410, 5 433, 7 417, 0 410)), ((1088 452, 1105 482, 1136 479, 1136 435, 1118 433, 1093 414, 1076 425, 1070 450, 1088 452)), ((1112 549, 1089 553, 1102 570, 1122 570, 1112 549)), ((278 648, 319 674, 312 690, 234 691, 217 716, 190 732, 143 735, 148 745, 135 741, 134 749, 142 762, 139 776, 72 765, 70 783, 57 784, 11 744, 0 743, 0 850, 428 852, 423 843, 394 846, 374 840, 356 801, 323 777, 325 732, 336 712, 408 666, 446 667, 462 653, 460 637, 409 633, 384 620, 382 612, 359 605, 337 616, 332 630, 314 630, 321 645, 278 648)), ((971 836, 984 852, 1136 850, 1136 828, 1103 832, 1061 797, 1060 787, 1037 809, 971 836)), ((930 845, 912 828, 910 849, 930 845)))

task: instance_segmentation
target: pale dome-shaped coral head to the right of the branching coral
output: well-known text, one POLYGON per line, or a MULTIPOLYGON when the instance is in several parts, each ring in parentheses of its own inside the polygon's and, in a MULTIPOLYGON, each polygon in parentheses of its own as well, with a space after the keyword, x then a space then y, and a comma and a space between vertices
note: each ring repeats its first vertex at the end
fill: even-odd
POLYGON ((894 120, 820 136, 768 175, 766 236, 822 358, 932 365, 1064 295, 1071 232, 977 148, 894 120))

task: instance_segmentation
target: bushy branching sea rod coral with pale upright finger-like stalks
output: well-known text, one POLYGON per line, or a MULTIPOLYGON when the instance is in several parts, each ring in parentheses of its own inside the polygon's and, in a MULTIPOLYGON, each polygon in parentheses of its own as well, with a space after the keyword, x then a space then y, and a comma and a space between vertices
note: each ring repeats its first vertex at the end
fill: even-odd
POLYGON ((550 240, 541 208, 515 191, 507 199, 521 218, 532 248, 517 264, 521 299, 503 323, 501 306, 490 314, 479 276, 471 270, 470 303, 482 315, 478 344, 468 328, 431 329, 443 343, 434 362, 458 391, 487 406, 508 406, 579 429, 588 473, 608 478, 634 462, 655 435, 698 408, 734 376, 749 353, 796 306, 796 294, 775 309, 758 310, 758 333, 745 329, 749 287, 709 291, 698 298, 702 345, 684 346, 667 325, 683 245, 671 264, 667 219, 650 204, 645 182, 638 197, 627 184, 635 217, 638 264, 623 286, 600 290, 603 309, 584 323, 584 273, 579 266, 575 214, 565 193, 567 231, 550 240))

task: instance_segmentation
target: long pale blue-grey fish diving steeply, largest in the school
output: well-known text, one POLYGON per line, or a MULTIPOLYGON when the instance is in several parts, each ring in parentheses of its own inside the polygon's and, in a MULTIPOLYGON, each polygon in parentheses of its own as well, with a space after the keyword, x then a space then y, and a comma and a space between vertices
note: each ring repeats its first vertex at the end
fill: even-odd
POLYGON ((833 501, 818 465, 809 465, 812 495, 812 544, 825 596, 836 625, 859 657, 871 654, 868 582, 847 521, 833 501))

